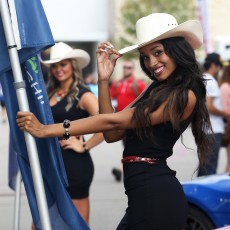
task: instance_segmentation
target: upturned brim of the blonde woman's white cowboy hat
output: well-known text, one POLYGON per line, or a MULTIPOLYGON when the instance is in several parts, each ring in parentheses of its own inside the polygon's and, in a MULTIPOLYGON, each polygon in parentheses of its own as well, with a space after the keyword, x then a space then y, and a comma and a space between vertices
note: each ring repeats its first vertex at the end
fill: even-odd
POLYGON ((79 65, 79 68, 83 69, 86 67, 89 62, 90 62, 90 56, 87 52, 81 49, 74 49, 62 58, 56 58, 56 59, 51 59, 51 60, 42 60, 41 62, 46 65, 50 66, 51 64, 66 60, 66 59, 76 59, 79 65))

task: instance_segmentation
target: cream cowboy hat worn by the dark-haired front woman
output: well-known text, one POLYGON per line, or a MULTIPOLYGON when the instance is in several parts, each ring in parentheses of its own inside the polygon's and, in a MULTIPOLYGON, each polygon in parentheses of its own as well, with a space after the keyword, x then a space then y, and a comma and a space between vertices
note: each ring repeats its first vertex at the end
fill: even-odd
POLYGON ((171 37, 184 37, 197 49, 202 45, 203 32, 199 21, 189 20, 178 25, 177 20, 170 14, 153 13, 140 18, 136 23, 137 45, 119 50, 120 54, 135 51, 152 42, 171 37))

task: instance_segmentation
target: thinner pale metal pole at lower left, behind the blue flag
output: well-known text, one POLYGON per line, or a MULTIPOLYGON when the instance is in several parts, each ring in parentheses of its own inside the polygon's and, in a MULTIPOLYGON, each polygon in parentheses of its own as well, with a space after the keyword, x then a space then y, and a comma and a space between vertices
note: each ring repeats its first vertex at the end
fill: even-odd
POLYGON ((19 230, 20 225, 20 206, 21 206, 21 173, 16 176, 16 189, 14 200, 14 230, 19 230))

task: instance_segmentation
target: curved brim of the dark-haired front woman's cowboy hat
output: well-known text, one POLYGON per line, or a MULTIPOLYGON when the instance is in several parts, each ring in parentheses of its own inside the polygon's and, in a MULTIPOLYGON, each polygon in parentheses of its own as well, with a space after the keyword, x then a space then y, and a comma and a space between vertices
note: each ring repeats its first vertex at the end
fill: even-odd
POLYGON ((185 40, 192 46, 193 49, 198 49, 203 43, 203 31, 199 21, 189 20, 181 23, 177 27, 157 36, 145 43, 125 47, 118 52, 120 54, 130 53, 137 51, 139 48, 149 45, 153 42, 171 38, 171 37, 184 37, 185 40))

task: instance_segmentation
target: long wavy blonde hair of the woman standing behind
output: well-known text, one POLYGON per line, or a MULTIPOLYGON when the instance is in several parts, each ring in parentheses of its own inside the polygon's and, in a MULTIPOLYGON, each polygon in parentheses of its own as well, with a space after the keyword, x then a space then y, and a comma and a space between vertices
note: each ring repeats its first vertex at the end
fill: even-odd
MULTIPOLYGON (((69 91, 71 92, 67 97, 67 105, 65 110, 68 111, 72 106, 75 100, 79 100, 79 84, 84 85, 82 71, 78 66, 77 60, 68 59, 71 61, 73 68, 73 84, 71 85, 69 91)), ((60 82, 52 75, 51 68, 49 68, 48 73, 48 82, 47 82, 47 93, 48 97, 51 98, 58 90, 60 82)))

